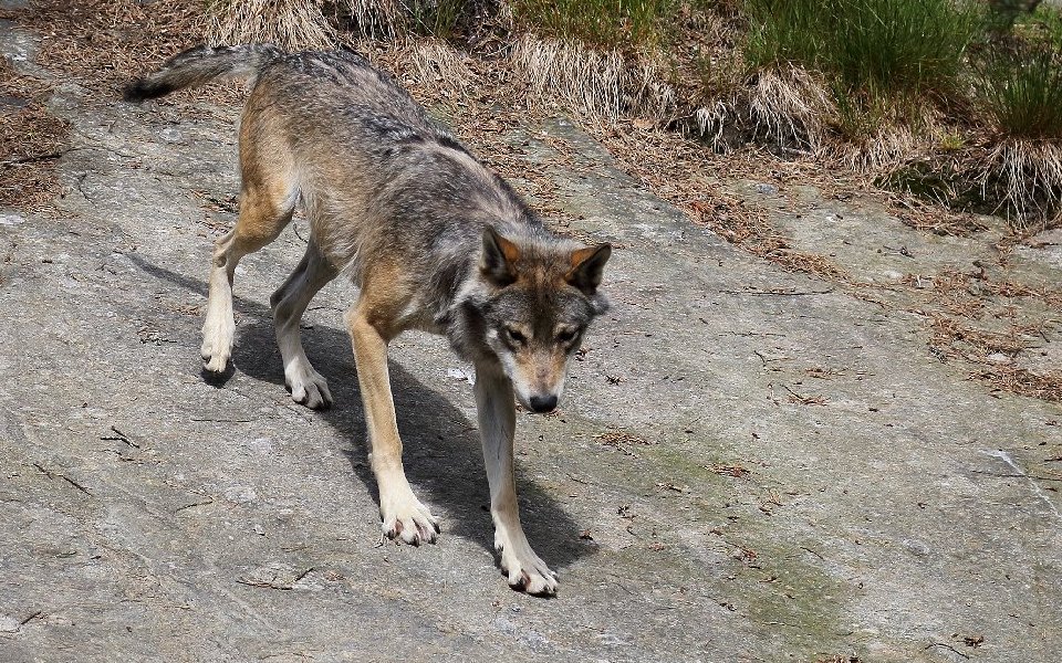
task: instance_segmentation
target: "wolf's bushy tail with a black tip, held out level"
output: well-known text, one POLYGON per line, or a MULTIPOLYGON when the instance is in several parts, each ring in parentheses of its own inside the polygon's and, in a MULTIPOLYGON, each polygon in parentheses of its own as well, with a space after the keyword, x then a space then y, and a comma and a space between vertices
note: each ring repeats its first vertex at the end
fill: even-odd
POLYGON ((154 74, 134 80, 122 91, 122 98, 143 102, 214 78, 252 78, 281 55, 283 51, 272 44, 196 46, 174 55, 154 74))

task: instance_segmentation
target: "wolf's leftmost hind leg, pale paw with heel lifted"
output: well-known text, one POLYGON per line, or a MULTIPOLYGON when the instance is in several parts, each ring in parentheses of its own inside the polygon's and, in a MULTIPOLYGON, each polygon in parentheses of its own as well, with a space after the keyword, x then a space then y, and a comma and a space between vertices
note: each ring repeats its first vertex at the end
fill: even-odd
POLYGON ((204 366, 212 372, 223 372, 232 355, 236 322, 232 319, 232 276, 236 265, 248 253, 272 242, 284 229, 295 209, 298 193, 290 182, 272 186, 244 186, 240 198, 240 218, 228 234, 215 242, 210 261, 210 294, 207 315, 202 323, 204 366))

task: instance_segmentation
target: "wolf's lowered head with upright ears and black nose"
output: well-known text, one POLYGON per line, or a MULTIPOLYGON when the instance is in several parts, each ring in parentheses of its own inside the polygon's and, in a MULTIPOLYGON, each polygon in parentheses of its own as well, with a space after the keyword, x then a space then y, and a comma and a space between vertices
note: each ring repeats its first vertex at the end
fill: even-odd
POLYGON ((478 273, 458 302, 455 348, 500 364, 523 407, 552 411, 586 327, 608 309, 597 286, 611 254, 610 244, 507 239, 487 228, 478 273))

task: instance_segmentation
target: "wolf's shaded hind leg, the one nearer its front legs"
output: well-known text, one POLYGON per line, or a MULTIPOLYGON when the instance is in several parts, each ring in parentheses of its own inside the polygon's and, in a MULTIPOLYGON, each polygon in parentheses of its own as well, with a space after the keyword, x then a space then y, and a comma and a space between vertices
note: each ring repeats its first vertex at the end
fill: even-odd
POLYGON ((284 382, 291 389, 291 398, 308 408, 326 408, 332 404, 329 382, 314 370, 302 348, 299 324, 313 296, 339 272, 322 255, 313 238, 306 253, 291 276, 269 298, 277 326, 277 345, 284 360, 284 382))

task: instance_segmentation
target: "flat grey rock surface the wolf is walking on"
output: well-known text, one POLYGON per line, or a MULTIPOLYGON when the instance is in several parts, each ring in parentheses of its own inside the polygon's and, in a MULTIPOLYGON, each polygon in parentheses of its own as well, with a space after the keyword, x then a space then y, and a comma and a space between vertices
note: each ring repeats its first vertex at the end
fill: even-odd
MULTIPOLYGON (((335 407, 283 386, 268 301, 305 221, 241 263, 235 371, 200 375, 237 112, 55 83, 64 196, 0 209, 0 660, 1058 660, 1062 409, 991 392, 910 315, 691 224, 566 123, 513 140, 572 230, 620 249, 560 413, 519 417, 523 520, 560 594, 496 568, 468 367, 426 335, 393 344, 392 377, 442 536, 381 541, 350 284, 305 318, 335 407)), ((858 200, 843 214, 791 230, 882 280, 865 241, 929 242, 860 232, 885 227, 858 200)), ((968 260, 930 243, 935 264, 968 260)))

